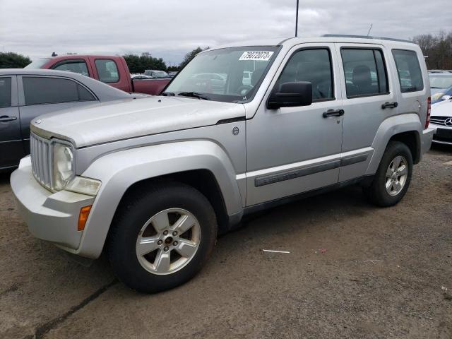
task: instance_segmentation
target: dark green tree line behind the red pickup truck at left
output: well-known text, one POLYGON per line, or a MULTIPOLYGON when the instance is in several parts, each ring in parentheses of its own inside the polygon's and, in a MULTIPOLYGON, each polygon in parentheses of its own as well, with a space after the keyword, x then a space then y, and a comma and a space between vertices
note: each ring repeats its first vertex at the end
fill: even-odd
MULTIPOLYGON (((152 55, 146 54, 126 54, 124 59, 126 60, 127 66, 129 66, 130 73, 144 73, 146 69, 157 69, 160 71, 179 71, 183 66, 189 63, 196 54, 208 49, 208 47, 201 48, 197 47, 191 52, 188 52, 182 63, 179 66, 167 66, 162 58, 156 58, 152 55)), ((21 54, 13 52, 0 52, 0 69, 22 69, 23 67, 30 64, 31 60, 29 57, 25 57, 21 54)))

